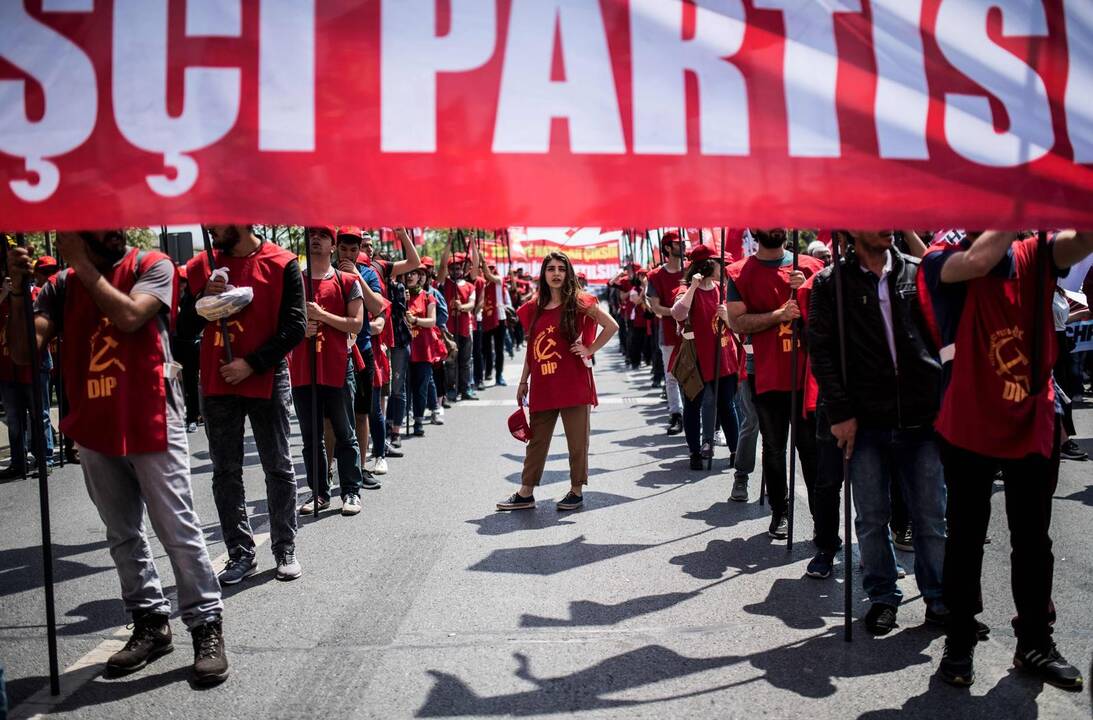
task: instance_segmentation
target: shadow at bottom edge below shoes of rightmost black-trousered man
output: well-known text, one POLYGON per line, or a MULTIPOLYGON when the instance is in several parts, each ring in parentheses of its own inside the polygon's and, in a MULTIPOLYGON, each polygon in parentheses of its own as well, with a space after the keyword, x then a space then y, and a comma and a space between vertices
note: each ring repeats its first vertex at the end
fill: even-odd
POLYGON ((952 717, 954 707, 960 708, 961 718, 968 720, 1035 720, 1039 717, 1036 698, 1043 689, 1042 682, 1012 668, 986 695, 973 695, 932 675, 929 688, 908 699, 903 707, 870 710, 858 716, 858 720, 944 718, 952 717))

